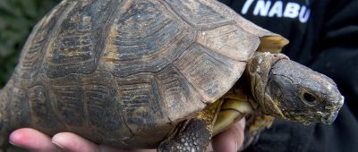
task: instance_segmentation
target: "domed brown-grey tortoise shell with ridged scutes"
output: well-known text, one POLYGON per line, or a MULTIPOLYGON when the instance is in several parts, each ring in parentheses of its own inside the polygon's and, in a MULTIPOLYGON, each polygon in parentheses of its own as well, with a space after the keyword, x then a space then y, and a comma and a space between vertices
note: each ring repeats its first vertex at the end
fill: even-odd
POLYGON ((270 36, 283 40, 215 0, 64 0, 4 90, 13 125, 156 147, 231 89, 270 36))

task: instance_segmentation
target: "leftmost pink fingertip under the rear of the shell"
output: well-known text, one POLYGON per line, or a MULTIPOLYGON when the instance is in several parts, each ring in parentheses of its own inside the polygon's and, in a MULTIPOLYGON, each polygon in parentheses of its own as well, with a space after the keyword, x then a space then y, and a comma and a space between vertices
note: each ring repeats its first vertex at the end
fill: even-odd
POLYGON ((50 137, 30 128, 13 131, 10 135, 10 143, 14 146, 25 148, 33 152, 58 150, 58 148, 51 143, 50 137))

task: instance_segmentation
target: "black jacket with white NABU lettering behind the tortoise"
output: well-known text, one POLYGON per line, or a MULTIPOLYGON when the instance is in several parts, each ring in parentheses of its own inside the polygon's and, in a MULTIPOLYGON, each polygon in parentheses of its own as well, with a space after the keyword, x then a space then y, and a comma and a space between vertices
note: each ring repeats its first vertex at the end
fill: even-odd
POLYGON ((358 0, 219 0, 290 40, 292 60, 335 80, 345 106, 332 125, 277 120, 247 151, 358 151, 358 0))

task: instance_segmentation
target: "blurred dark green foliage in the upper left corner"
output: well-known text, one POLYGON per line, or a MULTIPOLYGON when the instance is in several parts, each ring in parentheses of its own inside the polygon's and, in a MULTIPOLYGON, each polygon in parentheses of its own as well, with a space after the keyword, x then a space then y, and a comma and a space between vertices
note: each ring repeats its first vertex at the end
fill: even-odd
POLYGON ((32 27, 60 0, 0 0, 0 89, 11 77, 32 27))

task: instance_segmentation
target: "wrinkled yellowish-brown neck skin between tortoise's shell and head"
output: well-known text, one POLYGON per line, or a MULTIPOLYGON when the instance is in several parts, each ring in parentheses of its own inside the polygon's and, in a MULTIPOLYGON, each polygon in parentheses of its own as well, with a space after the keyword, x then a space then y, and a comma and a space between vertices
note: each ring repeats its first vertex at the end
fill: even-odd
POLYGON ((279 103, 275 102, 266 93, 268 74, 271 67, 281 59, 288 59, 288 57, 283 54, 257 52, 251 59, 251 62, 248 63, 245 75, 250 81, 251 93, 254 97, 254 100, 251 100, 251 105, 262 114, 286 119, 286 116, 282 114, 280 108, 277 106, 279 103))

